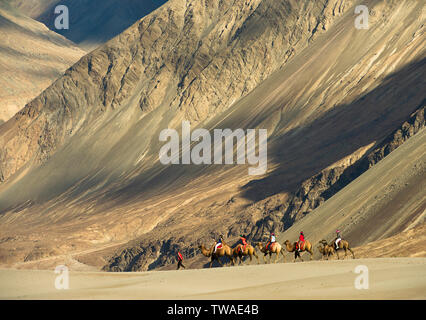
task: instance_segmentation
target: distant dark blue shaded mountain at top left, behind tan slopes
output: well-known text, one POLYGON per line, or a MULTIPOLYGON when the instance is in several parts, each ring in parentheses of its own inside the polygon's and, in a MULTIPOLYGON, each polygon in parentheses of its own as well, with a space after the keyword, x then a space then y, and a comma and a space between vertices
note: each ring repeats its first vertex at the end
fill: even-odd
POLYGON ((90 50, 110 40, 167 0, 11 0, 11 5, 90 50), (69 10, 69 29, 55 27, 55 7, 69 10))

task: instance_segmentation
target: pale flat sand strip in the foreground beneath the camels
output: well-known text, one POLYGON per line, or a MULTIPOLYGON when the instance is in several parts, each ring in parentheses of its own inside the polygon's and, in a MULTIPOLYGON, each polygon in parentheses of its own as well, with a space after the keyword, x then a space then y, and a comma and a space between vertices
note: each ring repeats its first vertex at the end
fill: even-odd
POLYGON ((141 273, 70 272, 68 290, 53 271, 0 270, 1 299, 425 299, 426 258, 261 264, 141 273), (355 288, 358 265, 369 289, 355 288))

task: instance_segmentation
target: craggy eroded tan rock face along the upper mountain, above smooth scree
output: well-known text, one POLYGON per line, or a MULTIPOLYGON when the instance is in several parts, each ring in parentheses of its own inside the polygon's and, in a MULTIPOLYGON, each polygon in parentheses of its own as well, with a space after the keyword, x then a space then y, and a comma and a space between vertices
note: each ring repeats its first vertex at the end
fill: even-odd
POLYGON ((81 59, 16 115, 2 132, 0 172, 7 180, 30 161, 42 163, 79 124, 89 126, 130 97, 141 112, 169 104, 193 123, 211 118, 305 47, 326 15, 332 21, 349 5, 170 1, 81 59))

